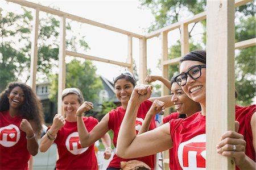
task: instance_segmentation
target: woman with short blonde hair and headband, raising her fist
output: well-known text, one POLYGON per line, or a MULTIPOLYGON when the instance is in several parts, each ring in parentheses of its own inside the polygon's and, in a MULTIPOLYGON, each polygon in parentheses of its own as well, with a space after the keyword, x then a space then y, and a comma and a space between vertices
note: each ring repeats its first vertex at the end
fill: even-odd
MULTIPOLYGON (((93 103, 84 101, 82 93, 77 88, 67 88, 62 92, 62 106, 65 118, 56 114, 52 126, 47 130, 40 142, 40 151, 46 152, 52 143, 56 143, 59 159, 56 162, 56 169, 98 169, 94 143, 88 147, 82 147, 77 132, 77 117, 83 125, 91 131, 98 124, 93 117, 84 117, 82 112, 77 115, 80 107, 84 111, 93 109, 93 103)), ((111 139, 108 133, 100 136, 106 148, 111 147, 111 139)), ((105 152, 105 159, 109 159, 111 152, 105 152)))

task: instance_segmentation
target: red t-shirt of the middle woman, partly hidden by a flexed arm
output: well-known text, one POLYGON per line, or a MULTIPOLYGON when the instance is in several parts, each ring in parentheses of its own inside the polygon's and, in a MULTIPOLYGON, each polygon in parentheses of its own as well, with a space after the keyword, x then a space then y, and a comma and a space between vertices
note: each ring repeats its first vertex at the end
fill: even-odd
MULTIPOLYGON (((152 105, 151 101, 144 101, 141 103, 139 106, 139 110, 137 113, 137 118, 136 118, 136 131, 138 133, 139 129, 142 126, 142 123, 144 121, 144 118, 146 116, 147 111, 150 109, 152 105)), ((109 129, 113 130, 114 136, 113 136, 113 143, 114 146, 117 146, 117 136, 119 132, 119 128, 121 126, 123 117, 125 115, 125 109, 123 107, 117 107, 117 109, 113 109, 112 111, 109 112, 109 129)), ((155 118, 152 118, 152 121, 150 123, 149 130, 152 130, 155 128, 155 118)), ((121 157, 118 157, 117 155, 113 156, 112 161, 109 163, 109 168, 120 168, 120 162, 121 161, 129 161, 129 160, 134 160, 134 159, 122 159, 121 157)), ((150 155, 150 156, 145 156, 145 157, 138 157, 135 158, 135 160, 140 160, 146 163, 151 169, 154 169, 155 167, 155 155, 150 155)))

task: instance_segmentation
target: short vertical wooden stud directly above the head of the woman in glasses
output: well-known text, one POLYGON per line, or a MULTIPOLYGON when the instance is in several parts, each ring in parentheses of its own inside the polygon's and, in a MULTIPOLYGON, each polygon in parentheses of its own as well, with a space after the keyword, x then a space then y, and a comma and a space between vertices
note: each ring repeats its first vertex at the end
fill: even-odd
POLYGON ((184 56, 189 52, 189 34, 188 34, 188 24, 181 24, 181 56, 184 56))

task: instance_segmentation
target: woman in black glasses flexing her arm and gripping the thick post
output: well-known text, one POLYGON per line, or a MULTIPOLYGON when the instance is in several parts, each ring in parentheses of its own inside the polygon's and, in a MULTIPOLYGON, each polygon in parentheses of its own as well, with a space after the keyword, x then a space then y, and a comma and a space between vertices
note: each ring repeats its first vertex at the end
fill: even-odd
MULTIPOLYGON (((175 81, 189 98, 200 103, 201 111, 186 119, 172 119, 163 126, 136 135, 135 113, 139 103, 150 96, 152 89, 152 86, 137 86, 131 95, 120 127, 117 141, 118 156, 125 158, 146 156, 173 148, 175 162, 174 167, 170 168, 205 168, 206 52, 192 51, 183 56, 180 60, 180 74, 175 77, 175 81), (196 154, 190 154, 191 151, 196 154)), ((240 125, 240 128, 250 129, 250 139, 244 139, 243 135, 246 131, 240 131, 242 134, 228 131, 222 135, 221 142, 217 146, 218 154, 234 158, 237 169, 255 169, 255 156, 246 155, 248 150, 250 152, 253 150, 255 153, 255 109, 247 114, 250 114, 251 119, 247 119, 246 124, 240 125), (251 143, 246 142, 249 140, 251 143)))

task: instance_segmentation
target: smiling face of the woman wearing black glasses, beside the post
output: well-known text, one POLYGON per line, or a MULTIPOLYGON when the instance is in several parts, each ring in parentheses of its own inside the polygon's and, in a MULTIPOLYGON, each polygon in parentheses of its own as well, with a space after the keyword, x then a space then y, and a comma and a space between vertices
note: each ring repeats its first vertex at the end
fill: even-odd
MULTIPOLYGON (((185 60, 180 64, 180 73, 187 72, 195 65, 202 65, 200 61, 185 60)), ((206 95, 206 69, 201 69, 201 76, 193 80, 190 76, 187 77, 187 84, 182 86, 183 91, 195 102, 205 105, 206 95)))

